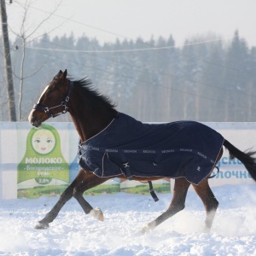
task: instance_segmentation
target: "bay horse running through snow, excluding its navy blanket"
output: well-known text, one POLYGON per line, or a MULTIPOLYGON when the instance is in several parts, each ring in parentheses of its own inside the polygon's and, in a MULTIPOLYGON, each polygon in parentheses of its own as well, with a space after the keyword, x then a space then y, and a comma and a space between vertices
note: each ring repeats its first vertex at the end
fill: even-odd
MULTIPOLYGON (((106 131, 106 129, 108 130, 108 126, 111 126, 113 120, 118 119, 119 116, 119 112, 116 110, 116 105, 113 104, 108 96, 102 95, 98 90, 96 90, 91 85, 90 79, 69 79, 67 77, 66 69, 64 72, 60 71, 59 73, 57 73, 54 79, 52 79, 52 81, 46 86, 42 95, 38 99, 38 103, 33 106, 32 111, 29 114, 28 120, 31 125, 38 127, 47 119, 51 117, 54 118, 61 113, 67 112, 69 112, 69 114, 71 115, 73 124, 75 125, 75 128, 79 133, 79 147, 83 145, 83 143, 85 143, 86 145, 87 142, 90 142, 91 140, 93 140, 93 138, 96 138, 98 134, 104 135, 104 131, 106 131)), ((178 123, 178 125, 181 124, 178 123)), ((123 125, 120 129, 123 129, 124 127, 125 125, 123 125)), ((155 125, 154 129, 158 130, 158 126, 155 125)), ((189 132, 189 130, 187 129, 186 132, 189 132)), ((186 132, 183 133, 184 137, 186 136, 186 132)), ((216 136, 218 136, 217 131, 212 130, 210 127, 208 127, 207 132, 207 137, 211 137, 211 134, 213 132, 214 134, 216 133, 216 136)), ((220 140, 219 138, 220 136, 218 136, 218 140, 220 140)), ((214 143, 214 141, 215 138, 212 140, 211 143, 214 143)), ((84 148, 83 154, 89 154, 90 156, 90 154, 94 153, 93 150, 90 150, 90 145, 87 148, 86 147, 84 148)), ((166 219, 171 218, 174 214, 184 209, 185 199, 190 184, 192 184, 196 194, 201 198, 201 201, 206 210, 205 226, 203 231, 210 232, 213 218, 218 208, 218 200, 212 193, 212 189, 210 188, 208 183, 208 178, 210 177, 213 168, 217 165, 218 160, 221 159, 221 156, 223 154, 223 147, 228 149, 230 153, 230 159, 237 158, 238 160, 240 160, 242 164, 247 168, 247 171, 250 173, 253 180, 256 181, 256 158, 254 156, 256 152, 252 150, 242 152, 223 138, 221 143, 219 143, 218 150, 215 150, 215 159, 211 161, 211 166, 207 167, 209 173, 204 174, 206 177, 201 177, 201 181, 199 183, 194 183, 189 181, 187 177, 184 177, 183 173, 175 176, 175 184, 170 206, 167 208, 166 212, 161 213, 158 218, 155 218, 153 221, 146 224, 142 229, 143 232, 154 230, 154 228, 166 221, 166 219)), ((207 144, 207 149, 210 154, 212 150, 211 144, 207 144)), ((100 151, 99 148, 96 148, 96 150, 100 151)), ((108 156, 109 152, 107 152, 107 149, 103 150, 105 150, 103 156, 104 158, 106 155, 108 156)), ((186 150, 187 149, 183 149, 183 151, 186 150)), ((150 153, 151 150, 144 151, 150 153)), ((172 150, 170 150, 170 152, 171 151, 172 150)), ((182 149, 180 149, 180 151, 182 151, 182 149)), ((174 161, 177 160, 177 152, 173 150, 172 154, 175 154, 174 161)), ((183 152, 183 155, 185 154, 186 153, 183 152)), ((199 156, 201 156, 202 159, 207 158, 207 156, 204 154, 194 154, 193 157, 189 158, 189 161, 193 161, 195 157, 199 156)), ((141 156, 139 156, 138 158, 141 159, 141 156)), ((166 158, 169 158, 168 154, 166 154, 166 158)), ((98 163, 96 162, 95 164, 97 165, 98 163)), ((131 167, 129 166, 128 162, 124 162, 123 165, 124 168, 121 166, 118 169, 128 170, 129 167, 131 167)), ((143 167, 143 165, 144 161, 141 166, 143 167)), ((54 221, 58 213, 61 211, 61 207, 63 207, 72 197, 74 197, 79 202, 79 205, 82 207, 86 214, 90 214, 97 220, 103 221, 104 217, 102 210, 99 207, 91 207, 90 203, 84 199, 83 194, 85 190, 104 183, 110 178, 119 177, 122 179, 133 178, 136 181, 154 181, 166 177, 161 176, 161 174, 158 175, 158 173, 153 173, 154 176, 152 176, 148 175, 146 172, 141 176, 133 175, 131 168, 130 170, 128 170, 129 172, 131 172, 130 176, 128 172, 114 172, 112 176, 104 177, 96 175, 96 172, 94 172, 94 167, 91 167, 89 164, 82 164, 81 167, 82 168, 80 169, 77 177, 75 177, 73 182, 70 183, 67 189, 64 190, 64 192, 60 196, 60 199, 56 202, 55 206, 45 215, 43 219, 38 221, 35 229, 44 230, 49 228, 49 223, 54 221)), ((169 168, 172 168, 170 164, 169 168)), ((183 170, 183 166, 181 166, 181 170, 183 170)), ((193 178, 193 176, 195 176, 194 172, 189 172, 189 175, 191 179, 193 178)))

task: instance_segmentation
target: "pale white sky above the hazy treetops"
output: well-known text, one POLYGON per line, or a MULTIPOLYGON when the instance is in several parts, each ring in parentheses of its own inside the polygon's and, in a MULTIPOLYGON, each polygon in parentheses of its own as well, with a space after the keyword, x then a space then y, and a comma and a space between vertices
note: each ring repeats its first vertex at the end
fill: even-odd
MULTIPOLYGON (((31 3, 26 16, 28 33, 60 1, 13 0, 9 4, 6 0, 9 37, 14 39, 11 29, 20 30, 24 13, 20 4, 31 3)), ((155 39, 169 38, 172 34, 176 45, 182 45, 186 38, 208 32, 231 40, 238 29, 240 37, 255 46, 255 12, 256 0, 62 0, 55 15, 35 35, 54 29, 49 33, 51 37, 64 33, 69 36, 73 32, 75 37, 84 34, 104 43, 116 38, 148 40, 152 35, 155 39)))

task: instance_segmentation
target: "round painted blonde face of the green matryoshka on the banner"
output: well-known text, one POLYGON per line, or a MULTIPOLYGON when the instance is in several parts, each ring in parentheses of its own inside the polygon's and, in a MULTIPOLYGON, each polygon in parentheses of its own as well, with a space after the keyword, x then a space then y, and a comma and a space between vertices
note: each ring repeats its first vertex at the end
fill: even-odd
POLYGON ((49 130, 38 130, 32 136, 32 147, 39 154, 49 154, 55 148, 55 136, 49 130))

